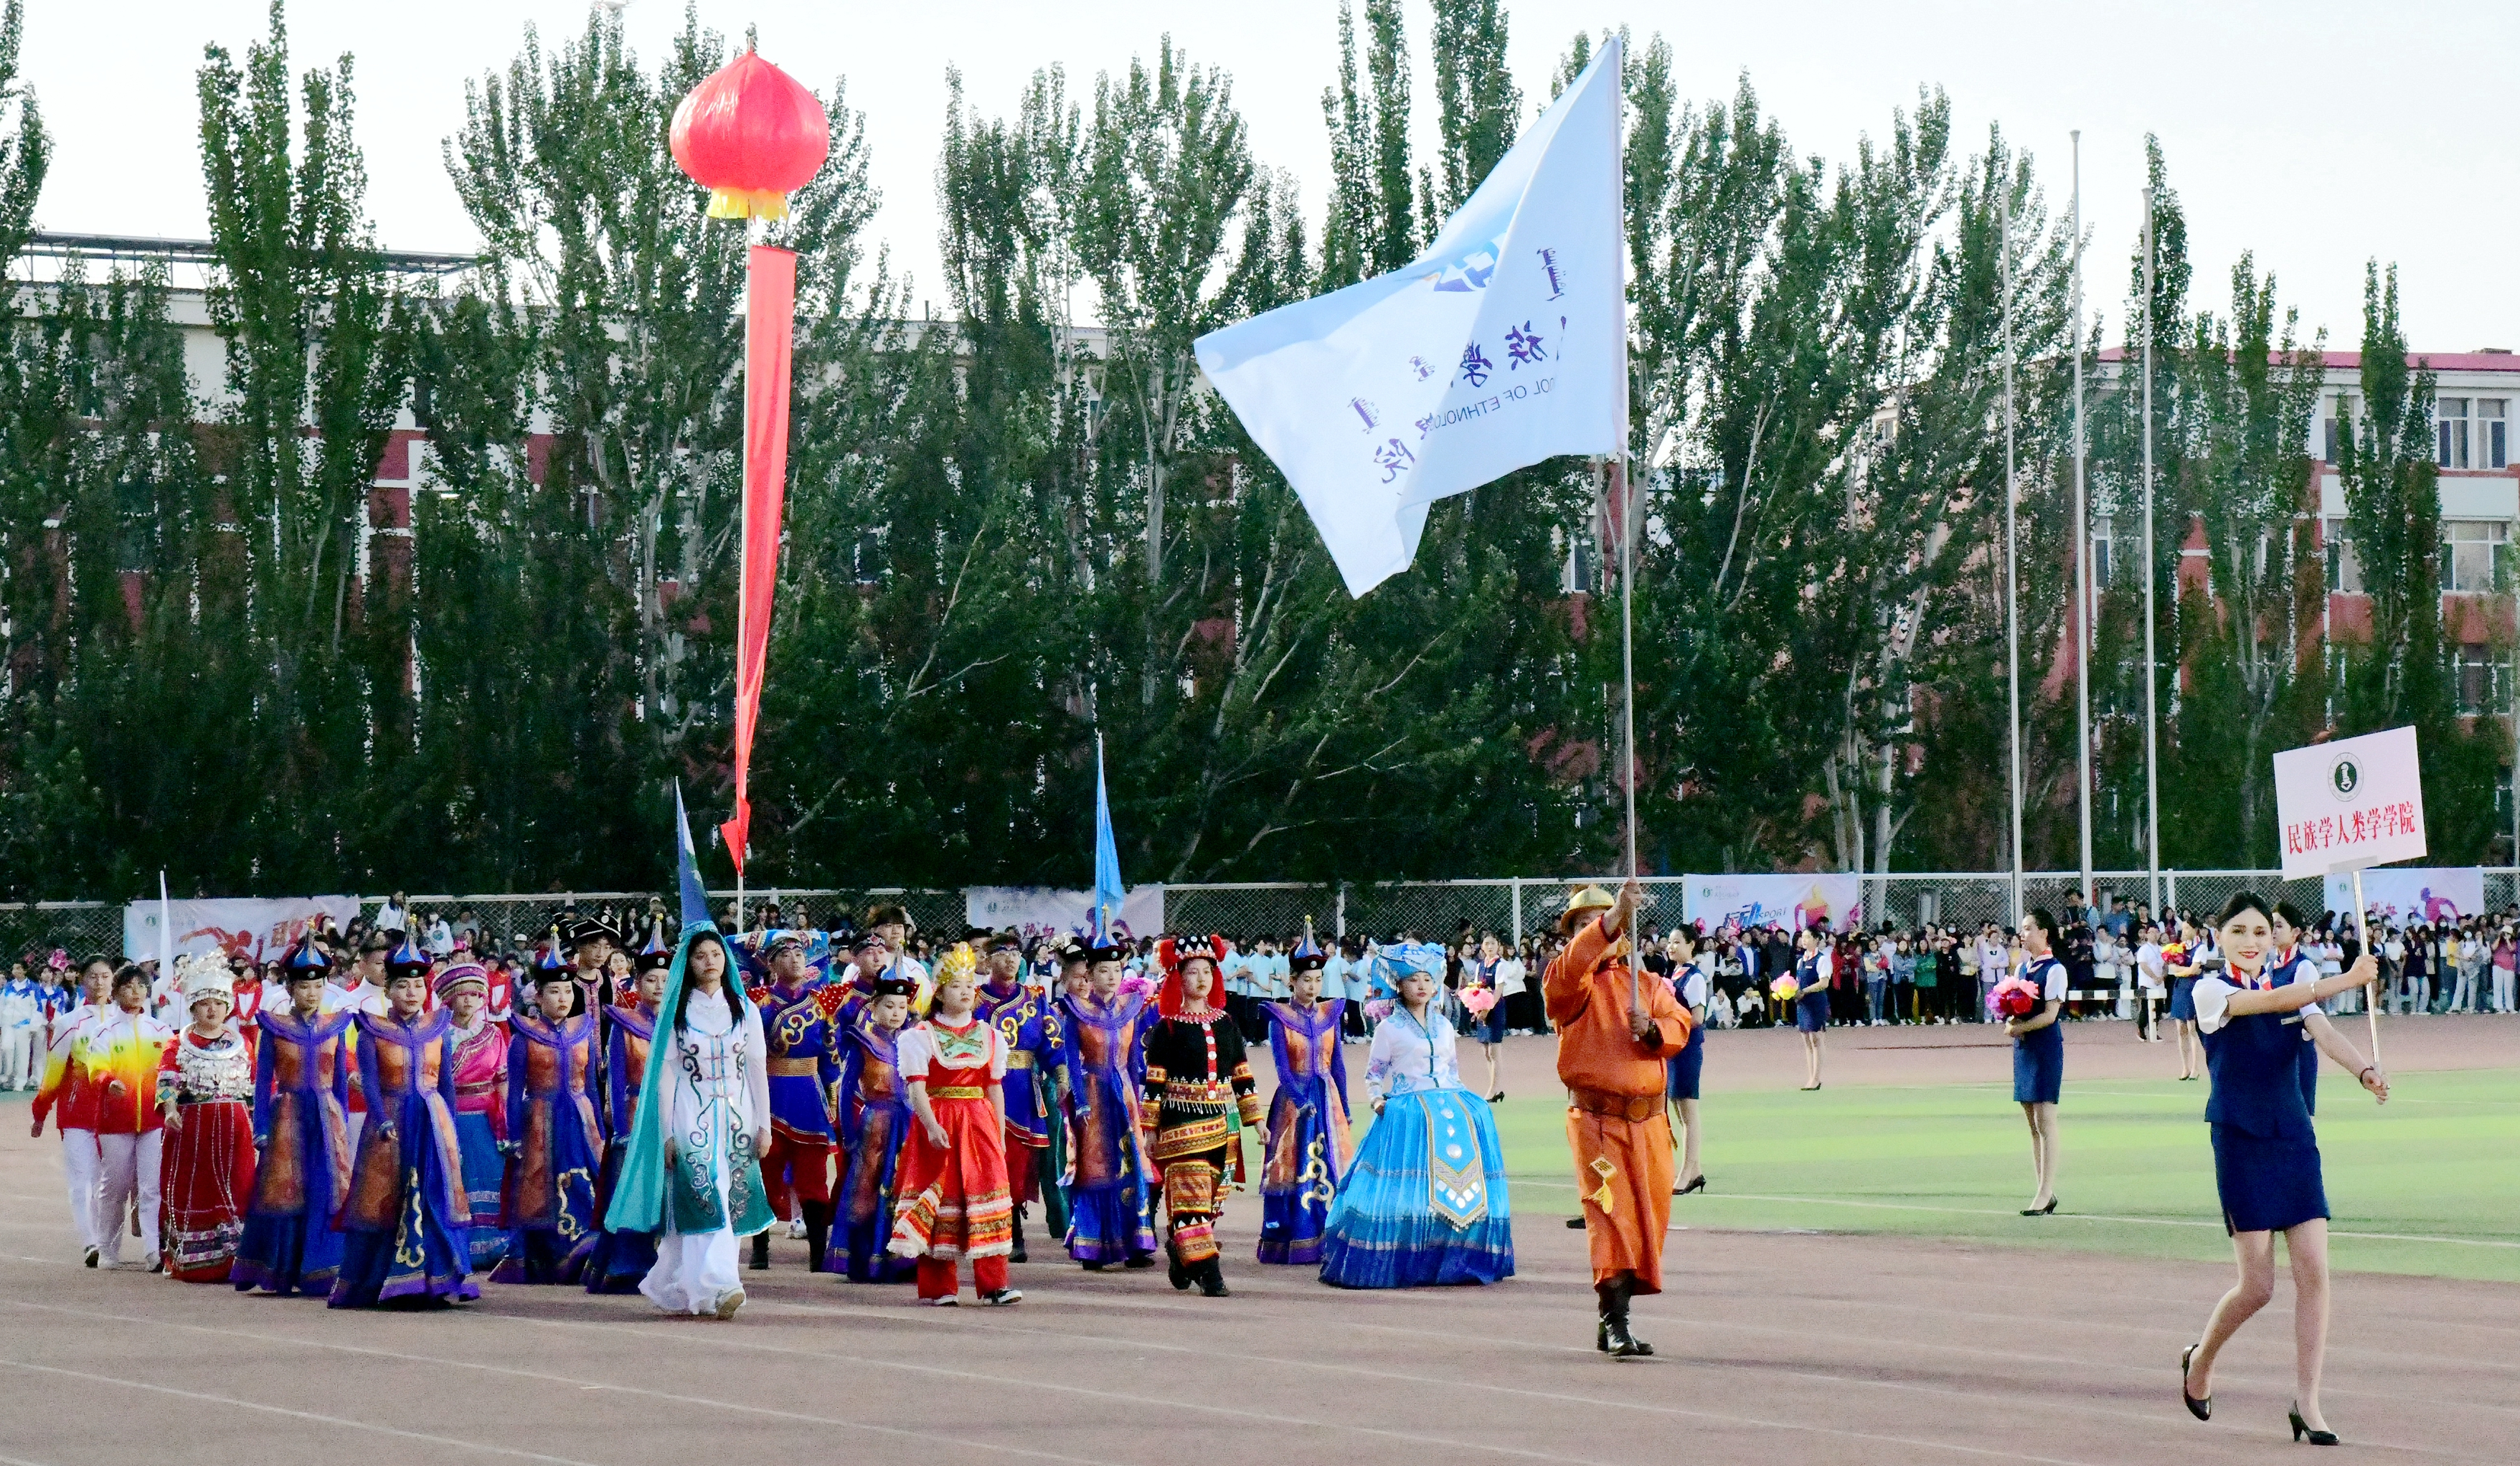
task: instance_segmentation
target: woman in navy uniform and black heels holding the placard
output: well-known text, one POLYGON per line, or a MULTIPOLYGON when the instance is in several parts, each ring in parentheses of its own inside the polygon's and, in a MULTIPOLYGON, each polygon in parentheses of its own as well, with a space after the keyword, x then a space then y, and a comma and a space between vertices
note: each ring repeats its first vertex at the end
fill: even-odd
MULTIPOLYGON (((2223 1295, 2205 1338, 2180 1355, 2180 1401, 2197 1421, 2213 1418, 2213 1365, 2223 1345, 2276 1295, 2276 1232, 2293 1259, 2293 1438, 2334 1446, 2318 1413, 2318 1370, 2328 1348, 2328 1196, 2318 1179, 2318 1141, 2301 1103, 2296 1045, 2286 1015, 2349 987, 2371 982, 2371 957, 2316 982, 2283 982, 2273 965, 2276 924, 2265 899, 2240 892, 2215 917, 2223 932, 2223 975, 2197 977, 2197 1033, 2213 1093, 2213 1179, 2223 1194, 2223 1227, 2240 1259, 2240 1282, 2223 1295)), ((2389 1098, 2379 1065, 2364 1063, 2354 1043, 2326 1028, 2318 1035, 2341 1068, 2354 1071, 2374 1098, 2389 1098)))

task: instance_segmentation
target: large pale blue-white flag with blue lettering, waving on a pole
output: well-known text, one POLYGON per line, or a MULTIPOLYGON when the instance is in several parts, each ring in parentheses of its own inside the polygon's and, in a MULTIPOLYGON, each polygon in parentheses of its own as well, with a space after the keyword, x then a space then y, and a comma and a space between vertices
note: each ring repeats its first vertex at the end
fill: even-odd
POLYGON ((1618 134, 1610 40, 1416 264, 1200 338, 1348 594, 1409 569, 1426 504, 1628 441, 1618 134))

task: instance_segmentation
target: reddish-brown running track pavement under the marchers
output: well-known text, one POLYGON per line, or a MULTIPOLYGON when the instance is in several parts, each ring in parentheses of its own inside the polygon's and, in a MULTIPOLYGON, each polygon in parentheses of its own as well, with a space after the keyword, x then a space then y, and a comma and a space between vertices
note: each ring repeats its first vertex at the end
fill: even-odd
MULTIPOLYGON (((2394 1060, 2452 1043, 2452 1028, 2391 1025, 2394 1060)), ((1875 1033, 1956 1030, 1850 1033, 1832 1058, 1870 1063, 1875 1033)), ((1777 1065, 1799 1078, 1787 1035, 1721 1040, 1744 1083, 1777 1065)), ((2082 1040, 2099 1053, 2107 1030, 2082 1040)), ((2124 1050, 2152 1065, 2162 1045, 2124 1050)), ((1940 1071, 1930 1053, 1991 1063, 1908 1063, 1940 1071)), ((1509 1093, 1542 1103, 1547 1045, 1517 1040, 1507 1063, 1509 1093)), ((1200 1300, 1162 1275, 1033 1262, 1016 1270, 1018 1310, 945 1312, 806 1275, 801 1244, 781 1239, 756 1302, 726 1325, 529 1287, 444 1315, 353 1315, 76 1267, 55 1141, 8 1123, 0 1466, 2291 1458, 2288 1295, 2225 1355, 2215 1423, 2175 1401, 2177 1350, 2228 1267, 1676 1232, 1673 1292, 1638 1302, 1661 1358, 1610 1363, 1590 1348, 1583 1234, 1555 1191, 1517 1199, 1520 1275, 1472 1292, 1343 1295, 1237 1262, 1235 1297, 1200 1300)), ((1252 1217, 1247 1196, 1232 1204, 1230 1257, 1250 1257, 1252 1217)), ((2356 1458, 2510 1463, 2520 1287, 2341 1277, 2326 1403, 2356 1458)))

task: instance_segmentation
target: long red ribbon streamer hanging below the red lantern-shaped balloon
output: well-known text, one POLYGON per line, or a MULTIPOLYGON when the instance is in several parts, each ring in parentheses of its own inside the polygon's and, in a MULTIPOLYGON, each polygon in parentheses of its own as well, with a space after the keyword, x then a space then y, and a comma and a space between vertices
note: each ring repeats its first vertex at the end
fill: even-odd
POLYGON ((743 290, 743 574, 736 612, 736 816, 718 826, 736 874, 753 826, 753 728, 771 655, 779 587, 779 511, 786 501, 789 350, 796 335, 796 254, 753 244, 743 290))

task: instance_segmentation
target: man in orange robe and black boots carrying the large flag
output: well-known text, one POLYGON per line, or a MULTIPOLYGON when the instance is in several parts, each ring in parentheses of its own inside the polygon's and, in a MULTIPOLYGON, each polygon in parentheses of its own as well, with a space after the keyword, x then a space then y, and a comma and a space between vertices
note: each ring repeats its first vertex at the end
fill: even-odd
POLYGON ((1671 987, 1628 965, 1628 932, 1643 897, 1630 879, 1618 899, 1600 887, 1567 897, 1557 929, 1572 929, 1540 990, 1557 1028, 1557 1078, 1567 1086, 1567 1146, 1593 1244, 1600 1297, 1595 1348, 1651 1355, 1628 1332, 1628 1300, 1663 1290, 1663 1229, 1671 1227, 1671 1121, 1663 1060, 1688 1043, 1688 1010, 1671 987))

